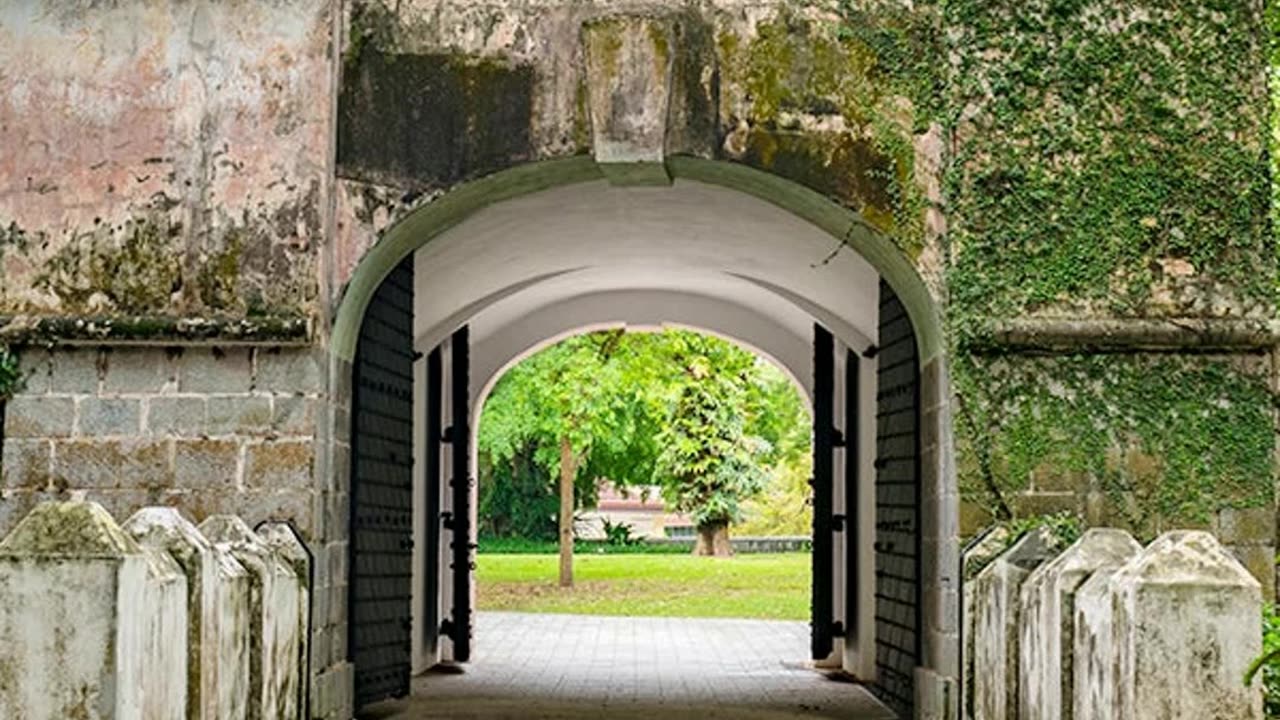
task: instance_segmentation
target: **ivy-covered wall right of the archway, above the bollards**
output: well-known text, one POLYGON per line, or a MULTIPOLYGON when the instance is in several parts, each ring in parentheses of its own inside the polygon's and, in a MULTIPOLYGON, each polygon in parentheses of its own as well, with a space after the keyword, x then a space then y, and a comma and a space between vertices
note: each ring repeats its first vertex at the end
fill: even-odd
POLYGON ((1251 550, 1275 541, 1270 348, 1143 331, 1276 316, 1263 4, 950 0, 946 26, 963 530, 1057 510, 1206 527, 1274 575, 1251 550), (1079 347, 1009 347, 1010 320, 1070 320, 1079 347))

